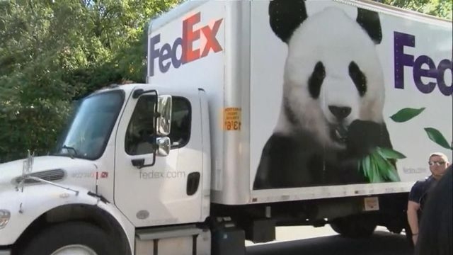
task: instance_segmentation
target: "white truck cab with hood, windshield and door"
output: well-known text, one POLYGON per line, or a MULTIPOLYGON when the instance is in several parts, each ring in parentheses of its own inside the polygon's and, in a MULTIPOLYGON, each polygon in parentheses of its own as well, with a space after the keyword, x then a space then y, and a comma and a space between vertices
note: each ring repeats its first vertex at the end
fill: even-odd
MULTIPOLYGON (((0 246, 29 254, 44 245, 28 242, 26 233, 89 220, 105 233, 122 229, 108 240, 128 239, 117 247, 127 250, 135 245, 134 229, 204 222, 210 212, 208 130, 201 89, 127 84, 96 91, 79 102, 54 152, 0 166, 0 232, 8 233, 0 234, 0 246), (120 223, 106 227, 101 215, 120 223)), ((52 252, 72 251, 49 242, 52 252)))

